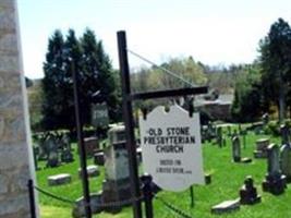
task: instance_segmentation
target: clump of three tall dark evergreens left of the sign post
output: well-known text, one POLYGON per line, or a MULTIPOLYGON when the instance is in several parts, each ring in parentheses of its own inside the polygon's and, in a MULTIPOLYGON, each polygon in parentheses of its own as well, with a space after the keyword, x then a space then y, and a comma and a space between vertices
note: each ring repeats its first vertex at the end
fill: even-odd
POLYGON ((46 129, 73 130, 75 126, 73 70, 78 80, 80 106, 85 124, 90 123, 90 104, 96 92, 100 92, 101 100, 108 102, 111 117, 117 110, 117 81, 101 41, 96 40, 90 29, 86 29, 81 39, 70 29, 65 40, 61 32, 56 31, 49 39, 44 64, 43 124, 46 129))

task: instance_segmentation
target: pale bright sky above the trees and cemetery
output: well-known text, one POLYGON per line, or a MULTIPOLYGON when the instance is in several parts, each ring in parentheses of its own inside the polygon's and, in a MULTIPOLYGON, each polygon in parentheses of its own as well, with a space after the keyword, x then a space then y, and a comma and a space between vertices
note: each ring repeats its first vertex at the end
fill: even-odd
MULTIPOLYGON (((25 75, 43 77, 48 38, 86 27, 118 68, 117 32, 131 50, 161 63, 192 56, 206 64, 251 63, 270 25, 291 24, 290 0, 17 0, 25 75)), ((130 66, 146 65, 130 56, 130 66)))

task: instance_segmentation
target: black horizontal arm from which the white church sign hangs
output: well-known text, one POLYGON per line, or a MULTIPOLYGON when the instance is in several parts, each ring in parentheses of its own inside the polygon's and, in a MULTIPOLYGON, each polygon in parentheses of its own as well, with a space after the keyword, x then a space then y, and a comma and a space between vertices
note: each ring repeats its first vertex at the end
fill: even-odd
POLYGON ((208 92, 208 86, 199 86, 193 88, 179 88, 169 90, 157 90, 148 93, 136 93, 129 96, 129 100, 146 100, 151 98, 166 98, 175 96, 186 96, 186 95, 199 95, 206 94, 208 92))

